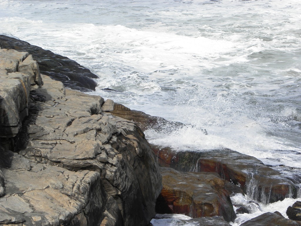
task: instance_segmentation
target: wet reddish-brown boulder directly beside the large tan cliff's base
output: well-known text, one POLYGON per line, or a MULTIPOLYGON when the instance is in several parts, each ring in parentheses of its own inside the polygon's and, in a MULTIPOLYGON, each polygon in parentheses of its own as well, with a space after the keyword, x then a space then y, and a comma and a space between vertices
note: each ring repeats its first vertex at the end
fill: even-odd
POLYGON ((161 168, 163 189, 157 199, 157 213, 185 214, 192 218, 223 216, 236 218, 225 180, 209 173, 183 173, 161 168))

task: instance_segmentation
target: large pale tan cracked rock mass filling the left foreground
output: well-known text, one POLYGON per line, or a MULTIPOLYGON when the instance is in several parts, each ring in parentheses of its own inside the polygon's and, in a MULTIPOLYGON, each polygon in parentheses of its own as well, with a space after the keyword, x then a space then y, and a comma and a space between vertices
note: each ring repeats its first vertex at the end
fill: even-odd
POLYGON ((162 184, 143 132, 2 52, 0 224, 147 225, 162 184))

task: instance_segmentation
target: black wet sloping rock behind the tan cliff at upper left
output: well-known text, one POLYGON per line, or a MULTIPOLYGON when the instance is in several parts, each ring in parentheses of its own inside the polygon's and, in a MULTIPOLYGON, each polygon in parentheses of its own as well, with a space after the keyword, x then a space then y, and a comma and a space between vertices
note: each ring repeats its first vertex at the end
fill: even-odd
POLYGON ((42 74, 63 82, 65 87, 83 92, 95 90, 97 75, 93 74, 88 68, 82 67, 76 61, 5 35, 0 35, 0 47, 1 49, 29 52, 38 62, 42 74))

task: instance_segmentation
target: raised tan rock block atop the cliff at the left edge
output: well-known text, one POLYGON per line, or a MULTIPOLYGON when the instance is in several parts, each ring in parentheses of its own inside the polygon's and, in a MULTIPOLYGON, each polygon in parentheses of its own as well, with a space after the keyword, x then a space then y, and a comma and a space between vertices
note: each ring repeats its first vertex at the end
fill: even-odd
POLYGON ((17 135, 28 115, 29 91, 42 84, 31 55, 0 49, 0 137, 17 135))

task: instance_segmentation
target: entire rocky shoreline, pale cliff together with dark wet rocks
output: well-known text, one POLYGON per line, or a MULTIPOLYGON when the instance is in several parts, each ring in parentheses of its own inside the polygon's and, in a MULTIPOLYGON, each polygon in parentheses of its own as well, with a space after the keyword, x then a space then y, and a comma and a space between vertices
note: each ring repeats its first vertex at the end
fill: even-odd
MULTIPOLYGON (((301 177, 230 149, 151 146, 144 130, 184 124, 80 92, 96 75, 68 58, 2 35, 0 46, 0 225, 147 226, 156 213, 230 225, 248 211, 232 195, 297 196, 301 177)), ((242 225, 300 225, 296 216, 242 225)))

